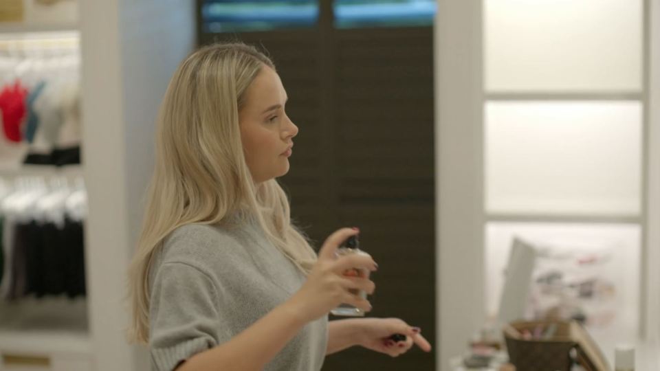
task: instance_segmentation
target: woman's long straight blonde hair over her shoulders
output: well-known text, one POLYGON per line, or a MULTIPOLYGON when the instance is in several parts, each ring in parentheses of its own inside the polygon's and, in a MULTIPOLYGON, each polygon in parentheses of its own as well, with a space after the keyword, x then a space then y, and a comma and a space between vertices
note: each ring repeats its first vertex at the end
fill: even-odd
POLYGON ((272 60, 242 43, 203 47, 184 60, 157 120, 155 170, 142 234, 129 267, 129 339, 148 342, 148 272, 154 252, 177 227, 220 224, 230 214, 256 221, 275 247, 309 273, 316 254, 292 223, 276 181, 255 184, 243 155, 239 110, 245 91, 272 60))

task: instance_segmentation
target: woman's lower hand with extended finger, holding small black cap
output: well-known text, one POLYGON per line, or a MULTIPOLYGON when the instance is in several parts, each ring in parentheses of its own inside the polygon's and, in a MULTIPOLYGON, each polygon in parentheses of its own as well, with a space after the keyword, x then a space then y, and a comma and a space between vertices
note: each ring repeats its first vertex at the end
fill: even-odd
POLYGON ((355 319, 358 331, 359 345, 364 348, 385 353, 391 357, 408 352, 413 344, 417 344, 424 352, 431 351, 431 345, 420 334, 420 329, 411 327, 398 318, 364 318, 355 319), (359 321, 359 322, 358 322, 359 321), (406 335, 402 341, 393 341, 394 334, 406 335))

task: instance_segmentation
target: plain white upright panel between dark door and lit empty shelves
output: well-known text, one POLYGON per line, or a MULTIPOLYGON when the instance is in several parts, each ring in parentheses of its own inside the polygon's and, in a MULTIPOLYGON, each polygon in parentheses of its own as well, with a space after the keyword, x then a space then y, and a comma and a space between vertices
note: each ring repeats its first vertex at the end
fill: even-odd
POLYGON ((481 37, 481 1, 438 1, 437 370, 448 370, 450 357, 465 351, 484 318, 481 37))

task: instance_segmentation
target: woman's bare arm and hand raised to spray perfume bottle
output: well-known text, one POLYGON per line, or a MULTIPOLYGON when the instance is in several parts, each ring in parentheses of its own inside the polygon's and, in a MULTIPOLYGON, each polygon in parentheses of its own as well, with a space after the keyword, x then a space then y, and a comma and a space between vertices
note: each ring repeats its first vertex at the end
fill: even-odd
POLYGON ((352 267, 375 271, 376 263, 371 256, 336 258, 335 254, 340 243, 355 234, 358 232, 349 228, 331 234, 321 247, 307 281, 293 297, 231 340, 190 357, 177 371, 263 370, 307 322, 327 315, 340 303, 371 311, 369 301, 351 294, 349 289, 371 294, 373 282, 368 278, 346 278, 342 272, 352 267))

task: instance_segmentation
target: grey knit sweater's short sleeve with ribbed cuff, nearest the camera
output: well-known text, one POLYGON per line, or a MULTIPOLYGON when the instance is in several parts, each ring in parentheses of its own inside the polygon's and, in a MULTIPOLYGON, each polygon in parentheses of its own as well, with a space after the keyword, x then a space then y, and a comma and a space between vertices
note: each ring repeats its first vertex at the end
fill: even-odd
POLYGON ((226 340, 218 328, 217 288, 206 273, 185 262, 160 265, 150 312, 153 370, 174 370, 182 361, 226 340))

